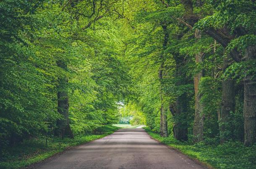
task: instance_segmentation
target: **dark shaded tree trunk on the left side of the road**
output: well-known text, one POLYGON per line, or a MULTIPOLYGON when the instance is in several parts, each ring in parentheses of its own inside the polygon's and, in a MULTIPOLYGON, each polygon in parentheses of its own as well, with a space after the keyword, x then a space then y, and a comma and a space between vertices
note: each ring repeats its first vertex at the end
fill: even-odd
MULTIPOLYGON (((64 70, 67 69, 67 65, 63 61, 57 61, 57 65, 64 70)), ((63 115, 63 119, 57 121, 57 126, 60 129, 61 136, 68 136, 69 138, 74 138, 73 132, 69 125, 68 118, 68 91, 67 84, 68 78, 63 75, 58 78, 59 84, 57 86, 57 98, 58 98, 58 112, 63 115)))

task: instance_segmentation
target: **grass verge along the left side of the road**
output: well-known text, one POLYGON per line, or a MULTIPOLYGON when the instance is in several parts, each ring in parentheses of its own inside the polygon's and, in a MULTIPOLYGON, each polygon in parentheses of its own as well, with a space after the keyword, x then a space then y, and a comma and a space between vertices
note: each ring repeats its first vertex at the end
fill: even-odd
POLYGON ((1 150, 0 169, 18 169, 29 166, 73 146, 100 139, 118 129, 120 128, 106 125, 98 128, 94 134, 75 136, 74 139, 49 138, 47 146, 44 137, 26 140, 21 144, 1 150))

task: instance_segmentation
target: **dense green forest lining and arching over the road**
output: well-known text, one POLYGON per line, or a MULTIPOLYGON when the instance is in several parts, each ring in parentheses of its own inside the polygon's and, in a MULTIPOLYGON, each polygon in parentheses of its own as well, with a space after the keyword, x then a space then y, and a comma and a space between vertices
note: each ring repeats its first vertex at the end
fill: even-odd
POLYGON ((0 168, 120 111, 214 168, 256 167, 256 1, 0 1, 0 168))

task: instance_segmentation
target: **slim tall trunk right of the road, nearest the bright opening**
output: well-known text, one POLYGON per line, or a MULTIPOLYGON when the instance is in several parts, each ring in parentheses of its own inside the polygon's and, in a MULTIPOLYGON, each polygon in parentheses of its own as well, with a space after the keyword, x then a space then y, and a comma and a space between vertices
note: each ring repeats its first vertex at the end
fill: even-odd
MULTIPOLYGON (((169 33, 167 32, 167 26, 166 25, 162 25, 163 31, 164 31, 164 41, 163 41, 163 51, 165 50, 166 46, 167 46, 167 42, 168 42, 168 37, 169 37, 169 33)), ((162 91, 162 80, 163 80, 163 69, 164 69, 164 63, 165 63, 165 58, 164 55, 162 53, 162 55, 159 58, 161 65, 159 68, 159 81, 160 81, 160 99, 161 99, 161 108, 160 108, 160 135, 162 137, 167 137, 168 136, 168 130, 167 130, 167 108, 165 108, 165 104, 163 103, 163 91, 162 91)))

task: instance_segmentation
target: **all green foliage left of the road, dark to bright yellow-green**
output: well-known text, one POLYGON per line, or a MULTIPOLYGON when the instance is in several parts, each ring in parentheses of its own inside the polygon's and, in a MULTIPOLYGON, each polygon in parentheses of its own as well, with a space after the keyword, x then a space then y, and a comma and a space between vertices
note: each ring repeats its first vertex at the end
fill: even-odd
MULTIPOLYGON (((91 25, 96 14, 74 18, 66 3, 0 2, 1 148, 55 132, 56 121, 63 119, 57 112, 60 78, 68 79, 61 90, 68 93, 74 134, 118 121, 117 102, 127 92, 120 86, 129 80, 118 25, 109 16, 100 26, 81 30, 81 23, 91 25), (58 61, 67 68, 57 66, 58 61)), ((82 8, 84 3, 76 4, 77 9, 89 15, 91 8, 82 8)))

